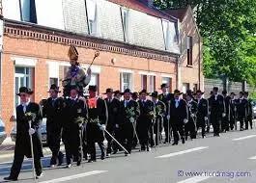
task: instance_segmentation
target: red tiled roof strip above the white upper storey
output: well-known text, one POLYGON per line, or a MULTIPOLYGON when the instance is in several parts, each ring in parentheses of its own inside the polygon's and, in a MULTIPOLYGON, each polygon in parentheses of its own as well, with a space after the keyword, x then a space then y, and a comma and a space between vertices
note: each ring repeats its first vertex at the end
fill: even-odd
POLYGON ((160 18, 165 18, 168 20, 174 20, 175 18, 172 17, 171 15, 168 15, 166 13, 163 13, 156 8, 150 8, 147 6, 146 1, 147 0, 108 0, 109 2, 127 7, 128 9, 132 9, 138 12, 142 13, 148 13, 150 15, 160 17, 160 18))

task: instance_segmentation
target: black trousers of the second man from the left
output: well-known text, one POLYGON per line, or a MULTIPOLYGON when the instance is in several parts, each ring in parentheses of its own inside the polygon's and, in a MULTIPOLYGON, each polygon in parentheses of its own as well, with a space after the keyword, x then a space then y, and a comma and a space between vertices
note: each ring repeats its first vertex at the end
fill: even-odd
POLYGON ((63 157, 63 153, 60 151, 61 129, 60 126, 47 126, 47 144, 52 152, 50 165, 56 165, 57 160, 63 157))

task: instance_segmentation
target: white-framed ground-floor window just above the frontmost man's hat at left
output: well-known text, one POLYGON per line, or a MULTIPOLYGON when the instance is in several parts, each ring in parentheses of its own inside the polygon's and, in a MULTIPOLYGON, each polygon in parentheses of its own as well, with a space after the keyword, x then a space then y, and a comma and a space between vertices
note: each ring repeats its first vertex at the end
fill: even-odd
MULTIPOLYGON (((32 89, 32 71, 30 67, 15 66, 15 93, 18 93, 20 87, 32 89)), ((15 106, 19 104, 20 98, 15 94, 15 106)))

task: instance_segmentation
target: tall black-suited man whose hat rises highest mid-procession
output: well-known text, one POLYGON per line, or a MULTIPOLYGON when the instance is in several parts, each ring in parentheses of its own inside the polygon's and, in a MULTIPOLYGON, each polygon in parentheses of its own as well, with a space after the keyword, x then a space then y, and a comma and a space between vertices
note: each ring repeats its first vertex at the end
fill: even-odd
POLYGON ((159 94, 158 98, 162 101, 166 106, 166 114, 163 118, 163 128, 165 133, 165 141, 164 143, 170 143, 171 141, 171 124, 170 124, 170 101, 173 98, 172 94, 168 92, 168 86, 166 84, 161 85, 162 93, 159 94), (169 129, 168 129, 169 127, 169 129), (169 142, 168 142, 169 139, 169 142))

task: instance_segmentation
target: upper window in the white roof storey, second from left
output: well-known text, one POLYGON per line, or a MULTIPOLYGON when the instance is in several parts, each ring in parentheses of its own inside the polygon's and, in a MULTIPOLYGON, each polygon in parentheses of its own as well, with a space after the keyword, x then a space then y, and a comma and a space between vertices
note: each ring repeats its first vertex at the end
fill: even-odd
POLYGON ((94 36, 100 36, 97 15, 97 4, 94 0, 86 0, 89 34, 94 36))

